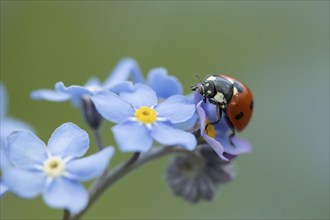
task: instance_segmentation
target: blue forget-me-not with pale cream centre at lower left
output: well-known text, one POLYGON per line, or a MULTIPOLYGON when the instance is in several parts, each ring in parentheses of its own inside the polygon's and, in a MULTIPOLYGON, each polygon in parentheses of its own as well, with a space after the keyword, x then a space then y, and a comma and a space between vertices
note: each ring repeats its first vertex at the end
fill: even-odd
POLYGON ((8 160, 4 170, 9 190, 24 198, 42 194, 53 208, 81 211, 88 202, 88 192, 80 181, 101 175, 114 153, 112 147, 85 157, 88 134, 72 123, 58 127, 48 146, 29 131, 17 131, 8 137, 8 160))

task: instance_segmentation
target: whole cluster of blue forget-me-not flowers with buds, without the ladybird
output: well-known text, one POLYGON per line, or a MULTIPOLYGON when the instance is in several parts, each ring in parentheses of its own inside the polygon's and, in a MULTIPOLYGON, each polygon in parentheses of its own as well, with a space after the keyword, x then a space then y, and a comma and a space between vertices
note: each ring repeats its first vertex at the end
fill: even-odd
MULTIPOLYGON (((58 127, 46 145, 32 129, 6 116, 1 87, 1 161, 6 161, 1 164, 2 183, 20 197, 42 195, 48 206, 70 213, 83 211, 90 202, 81 181, 97 177, 98 190, 111 183, 108 164, 115 148, 101 143, 102 120, 114 124, 111 131, 120 152, 142 154, 135 158, 135 166, 149 160, 145 158, 157 158, 154 149, 180 149, 177 152, 182 155, 169 164, 167 182, 176 195, 190 202, 212 199, 217 186, 233 179, 231 160, 251 151, 244 139, 234 137, 235 146, 230 144, 225 120, 209 123, 216 116, 214 105, 203 103, 197 93, 183 95, 181 83, 165 68, 150 70, 144 79, 131 58, 121 60, 104 83, 96 78, 83 86, 57 82, 55 90, 36 90, 31 97, 71 101, 81 109, 96 134, 98 152, 80 158, 88 149, 89 137, 71 122, 58 127)), ((122 172, 129 172, 135 160, 122 172)))

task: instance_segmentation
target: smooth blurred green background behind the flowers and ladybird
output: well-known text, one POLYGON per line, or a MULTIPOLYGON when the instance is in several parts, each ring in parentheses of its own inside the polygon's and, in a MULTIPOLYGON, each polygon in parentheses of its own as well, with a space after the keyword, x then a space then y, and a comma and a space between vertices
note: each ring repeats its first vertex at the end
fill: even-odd
MULTIPOLYGON (((36 102, 29 93, 57 81, 104 80, 126 56, 144 74, 166 67, 186 92, 195 74, 244 81, 255 112, 239 136, 254 151, 235 161, 236 180, 213 202, 172 196, 164 158, 121 180, 86 218, 329 218, 328 1, 1 1, 1 80, 10 115, 45 141, 63 122, 87 127, 70 103, 36 102)), ((118 152, 112 166, 128 156, 118 152)), ((61 215, 40 197, 1 199, 2 219, 61 215)))

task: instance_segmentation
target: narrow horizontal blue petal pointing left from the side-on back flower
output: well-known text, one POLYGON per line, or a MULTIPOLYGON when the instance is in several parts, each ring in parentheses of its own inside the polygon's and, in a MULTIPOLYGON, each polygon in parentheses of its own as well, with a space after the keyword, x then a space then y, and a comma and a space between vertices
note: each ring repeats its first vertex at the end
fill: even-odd
POLYGON ((39 89, 31 92, 31 98, 34 100, 48 100, 53 102, 63 102, 70 99, 70 95, 56 92, 49 89, 39 89))

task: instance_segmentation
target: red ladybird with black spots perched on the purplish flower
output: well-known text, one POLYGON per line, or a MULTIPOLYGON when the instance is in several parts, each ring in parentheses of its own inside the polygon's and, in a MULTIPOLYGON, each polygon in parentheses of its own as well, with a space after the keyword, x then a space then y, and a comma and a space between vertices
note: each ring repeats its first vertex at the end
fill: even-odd
MULTIPOLYGON (((198 77, 198 76, 197 76, 198 77)), ((201 81, 201 80, 200 80, 201 81)), ((251 90, 241 81, 227 75, 208 75, 199 84, 192 86, 193 91, 203 96, 204 102, 208 101, 217 107, 217 124, 224 114, 232 134, 235 130, 243 130, 249 123, 253 112, 253 95, 251 90)))

